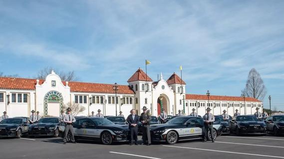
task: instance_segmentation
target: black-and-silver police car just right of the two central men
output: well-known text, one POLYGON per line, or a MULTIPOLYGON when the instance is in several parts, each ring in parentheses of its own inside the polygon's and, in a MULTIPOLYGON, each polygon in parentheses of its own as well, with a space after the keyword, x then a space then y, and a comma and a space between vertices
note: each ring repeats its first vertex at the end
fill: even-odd
MULTIPOLYGON (((168 144, 175 144, 182 140, 203 139, 204 121, 200 117, 179 116, 171 119, 165 124, 151 125, 152 141, 166 141, 168 144)), ((214 139, 216 130, 213 129, 214 139)), ((209 137, 208 141, 211 140, 209 137)))

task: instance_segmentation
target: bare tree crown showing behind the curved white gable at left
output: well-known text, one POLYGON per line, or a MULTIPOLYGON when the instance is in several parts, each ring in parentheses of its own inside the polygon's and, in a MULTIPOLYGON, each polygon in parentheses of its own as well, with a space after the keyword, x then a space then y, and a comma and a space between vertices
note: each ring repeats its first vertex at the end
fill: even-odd
POLYGON ((52 70, 60 77, 61 80, 64 80, 64 81, 75 81, 75 80, 78 80, 78 78, 76 77, 74 71, 62 72, 62 71, 58 71, 56 69, 53 69, 51 67, 46 67, 46 68, 40 70, 37 73, 36 79, 45 79, 46 76, 49 75, 52 70))

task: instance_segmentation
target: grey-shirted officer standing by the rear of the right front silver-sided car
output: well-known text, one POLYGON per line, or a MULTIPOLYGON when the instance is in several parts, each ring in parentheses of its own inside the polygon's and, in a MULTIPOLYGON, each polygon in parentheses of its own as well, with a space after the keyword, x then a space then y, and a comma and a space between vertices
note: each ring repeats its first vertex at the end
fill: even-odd
POLYGON ((214 115, 210 113, 210 108, 208 107, 207 113, 203 116, 204 120, 204 126, 205 126, 205 131, 204 131, 204 136, 203 136, 203 141, 207 141, 207 135, 208 131, 210 131, 211 137, 212 137, 212 143, 214 143, 214 138, 213 138, 213 122, 215 121, 214 115))

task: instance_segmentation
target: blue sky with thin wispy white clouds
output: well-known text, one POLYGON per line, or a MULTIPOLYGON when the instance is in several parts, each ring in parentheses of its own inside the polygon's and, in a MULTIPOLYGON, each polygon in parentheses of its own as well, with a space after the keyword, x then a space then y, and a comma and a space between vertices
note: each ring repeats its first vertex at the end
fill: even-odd
POLYGON ((284 110, 284 0, 0 0, 0 72, 46 67, 128 84, 140 67, 186 92, 240 96, 255 68, 284 110))

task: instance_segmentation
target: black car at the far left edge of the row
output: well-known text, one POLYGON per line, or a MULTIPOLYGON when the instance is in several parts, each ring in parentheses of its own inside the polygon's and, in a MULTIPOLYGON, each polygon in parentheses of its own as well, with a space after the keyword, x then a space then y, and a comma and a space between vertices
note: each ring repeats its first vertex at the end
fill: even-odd
POLYGON ((28 121, 24 118, 7 118, 0 122, 0 137, 20 138, 28 132, 28 121))

